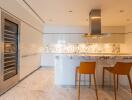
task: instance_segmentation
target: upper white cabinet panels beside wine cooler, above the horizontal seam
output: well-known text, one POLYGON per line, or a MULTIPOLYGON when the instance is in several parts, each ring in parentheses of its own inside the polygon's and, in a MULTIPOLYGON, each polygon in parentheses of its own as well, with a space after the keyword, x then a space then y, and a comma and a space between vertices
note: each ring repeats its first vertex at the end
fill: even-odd
POLYGON ((42 47, 42 36, 42 33, 22 22, 20 32, 21 55, 38 53, 42 47))

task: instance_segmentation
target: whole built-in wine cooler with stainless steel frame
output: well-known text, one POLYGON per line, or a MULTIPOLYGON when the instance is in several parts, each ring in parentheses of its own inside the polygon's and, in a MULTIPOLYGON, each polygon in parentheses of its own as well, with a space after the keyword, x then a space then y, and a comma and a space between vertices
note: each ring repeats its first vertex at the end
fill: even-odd
POLYGON ((1 14, 1 43, 0 93, 19 80, 19 21, 4 12, 1 14))

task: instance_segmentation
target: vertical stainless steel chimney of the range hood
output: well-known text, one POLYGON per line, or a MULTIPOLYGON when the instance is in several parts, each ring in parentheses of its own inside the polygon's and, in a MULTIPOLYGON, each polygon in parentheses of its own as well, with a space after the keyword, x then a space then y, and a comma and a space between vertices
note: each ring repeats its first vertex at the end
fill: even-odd
POLYGON ((90 11, 89 22, 89 35, 101 35, 101 9, 90 11))

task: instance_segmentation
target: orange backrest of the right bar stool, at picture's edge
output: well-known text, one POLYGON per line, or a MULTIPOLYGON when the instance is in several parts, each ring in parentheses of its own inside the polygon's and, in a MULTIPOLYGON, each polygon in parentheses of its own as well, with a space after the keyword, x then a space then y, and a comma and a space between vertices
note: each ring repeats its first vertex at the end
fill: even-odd
POLYGON ((113 69, 113 72, 116 74, 128 75, 130 73, 131 67, 132 62, 117 62, 113 69))

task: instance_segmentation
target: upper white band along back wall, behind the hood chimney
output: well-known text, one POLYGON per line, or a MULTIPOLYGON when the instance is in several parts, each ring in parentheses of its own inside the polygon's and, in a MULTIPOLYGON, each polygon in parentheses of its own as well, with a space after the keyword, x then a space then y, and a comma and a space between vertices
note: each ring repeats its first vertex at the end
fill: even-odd
MULTIPOLYGON (((124 33, 124 26, 102 26, 102 33, 124 33)), ((64 26, 45 24, 45 33, 89 33, 89 26, 64 26)))

